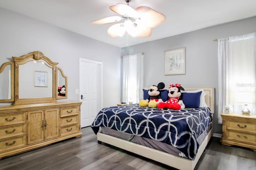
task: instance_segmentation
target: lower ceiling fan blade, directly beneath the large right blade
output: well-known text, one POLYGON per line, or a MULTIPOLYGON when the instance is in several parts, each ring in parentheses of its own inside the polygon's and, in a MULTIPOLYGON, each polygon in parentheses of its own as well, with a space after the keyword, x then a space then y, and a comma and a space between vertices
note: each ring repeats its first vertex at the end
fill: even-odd
POLYGON ((139 26, 136 27, 134 25, 125 26, 127 33, 132 37, 141 37, 141 38, 147 38, 151 36, 152 28, 139 26))

